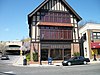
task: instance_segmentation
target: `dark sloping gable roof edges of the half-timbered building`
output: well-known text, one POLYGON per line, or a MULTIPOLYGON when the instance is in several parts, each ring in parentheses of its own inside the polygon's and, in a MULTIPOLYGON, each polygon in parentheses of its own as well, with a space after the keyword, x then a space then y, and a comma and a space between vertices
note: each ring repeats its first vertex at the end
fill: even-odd
MULTIPOLYGON (((44 2, 42 2, 35 10, 33 10, 30 14, 28 14, 28 19, 30 17, 32 17, 39 9, 41 9, 49 0, 45 0, 44 2)), ((78 18, 78 20, 80 21, 82 18, 74 11, 74 9, 65 1, 62 0, 65 5, 72 11, 72 13, 78 18)))

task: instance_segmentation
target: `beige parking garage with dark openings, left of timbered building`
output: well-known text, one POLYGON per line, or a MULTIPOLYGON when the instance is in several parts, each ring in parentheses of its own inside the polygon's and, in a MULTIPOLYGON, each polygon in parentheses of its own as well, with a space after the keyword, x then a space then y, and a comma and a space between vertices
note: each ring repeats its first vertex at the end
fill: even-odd
POLYGON ((20 54, 20 47, 22 46, 22 42, 19 40, 14 41, 0 41, 0 44, 3 44, 6 47, 6 54, 20 54))

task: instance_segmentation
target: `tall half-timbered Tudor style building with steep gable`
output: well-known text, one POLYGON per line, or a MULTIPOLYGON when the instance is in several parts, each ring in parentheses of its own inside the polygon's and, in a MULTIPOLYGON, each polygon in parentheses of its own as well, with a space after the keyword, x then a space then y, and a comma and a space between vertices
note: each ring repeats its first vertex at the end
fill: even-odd
POLYGON ((32 52, 38 52, 38 61, 70 58, 79 52, 78 22, 81 17, 65 0, 45 0, 28 14, 32 52))

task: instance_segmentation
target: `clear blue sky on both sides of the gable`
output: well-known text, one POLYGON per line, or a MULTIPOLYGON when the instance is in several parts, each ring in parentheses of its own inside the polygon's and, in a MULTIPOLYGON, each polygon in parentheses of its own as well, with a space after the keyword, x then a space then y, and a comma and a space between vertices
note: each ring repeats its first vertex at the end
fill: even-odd
MULTIPOLYGON (((0 41, 29 37, 27 15, 44 0, 0 0, 0 41)), ((66 0, 84 21, 100 23, 100 0, 66 0)))

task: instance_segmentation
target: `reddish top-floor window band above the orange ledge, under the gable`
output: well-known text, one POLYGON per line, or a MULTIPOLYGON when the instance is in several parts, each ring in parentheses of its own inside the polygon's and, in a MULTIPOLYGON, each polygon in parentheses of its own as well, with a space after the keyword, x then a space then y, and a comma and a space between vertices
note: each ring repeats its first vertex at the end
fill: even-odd
POLYGON ((65 12, 48 12, 41 15, 42 22, 71 23, 70 15, 65 12))

